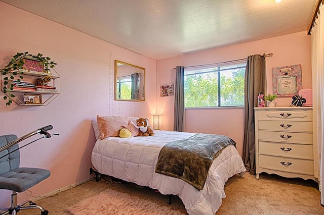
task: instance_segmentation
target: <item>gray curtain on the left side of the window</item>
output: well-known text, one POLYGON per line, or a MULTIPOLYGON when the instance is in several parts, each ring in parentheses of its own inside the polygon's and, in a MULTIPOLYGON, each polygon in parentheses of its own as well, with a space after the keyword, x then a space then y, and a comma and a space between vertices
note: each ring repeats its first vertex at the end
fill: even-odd
POLYGON ((174 131, 182 131, 184 114, 184 67, 176 68, 174 98, 174 131))

